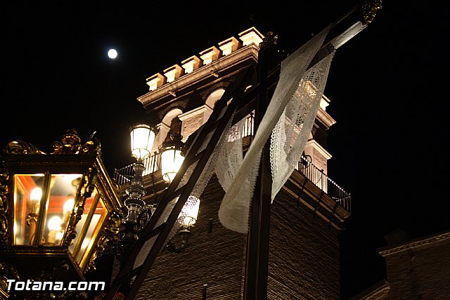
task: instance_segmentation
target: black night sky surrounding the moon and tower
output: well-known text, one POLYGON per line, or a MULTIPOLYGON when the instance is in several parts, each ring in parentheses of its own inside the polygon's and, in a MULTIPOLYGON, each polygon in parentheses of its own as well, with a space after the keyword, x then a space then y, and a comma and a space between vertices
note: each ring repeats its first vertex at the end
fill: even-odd
MULTIPOLYGON (((112 174, 133 162, 128 129, 143 119, 136 98, 147 77, 252 26, 293 52, 358 3, 2 4, 0 145, 16 138, 51 152, 67 129, 84 138, 96 131, 112 174)), ((331 64, 325 95, 337 123, 328 131, 328 174, 353 205, 342 234, 344 299, 384 277, 384 235, 450 228, 444 12, 444 1, 384 1, 331 64)))

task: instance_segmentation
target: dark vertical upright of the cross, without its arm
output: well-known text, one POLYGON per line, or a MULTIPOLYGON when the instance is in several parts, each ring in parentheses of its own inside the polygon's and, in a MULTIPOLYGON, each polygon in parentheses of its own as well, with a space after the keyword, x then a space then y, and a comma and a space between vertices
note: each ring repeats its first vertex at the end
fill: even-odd
MULTIPOLYGON (((279 68, 278 37, 266 34, 258 53, 257 76, 259 89, 255 107, 255 132, 261 123, 275 91, 279 68)), ((269 261, 269 233, 271 214, 272 175, 270 138, 262 150, 255 192, 250 206, 250 221, 245 260, 244 299, 266 299, 269 261)))

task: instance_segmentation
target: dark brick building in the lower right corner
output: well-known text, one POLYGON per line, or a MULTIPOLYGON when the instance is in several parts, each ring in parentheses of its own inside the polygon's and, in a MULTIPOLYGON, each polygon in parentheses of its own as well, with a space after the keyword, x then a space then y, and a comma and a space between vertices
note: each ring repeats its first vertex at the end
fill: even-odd
POLYGON ((379 250, 386 279, 352 297, 365 299, 449 299, 450 231, 411 238, 396 229, 379 250))

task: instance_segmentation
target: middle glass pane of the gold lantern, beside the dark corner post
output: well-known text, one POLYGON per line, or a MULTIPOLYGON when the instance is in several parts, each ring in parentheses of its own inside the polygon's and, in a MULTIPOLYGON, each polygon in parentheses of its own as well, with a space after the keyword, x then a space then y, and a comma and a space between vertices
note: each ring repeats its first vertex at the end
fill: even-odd
POLYGON ((60 246, 72 215, 81 178, 82 174, 51 175, 49 200, 46 202, 40 244, 60 246))

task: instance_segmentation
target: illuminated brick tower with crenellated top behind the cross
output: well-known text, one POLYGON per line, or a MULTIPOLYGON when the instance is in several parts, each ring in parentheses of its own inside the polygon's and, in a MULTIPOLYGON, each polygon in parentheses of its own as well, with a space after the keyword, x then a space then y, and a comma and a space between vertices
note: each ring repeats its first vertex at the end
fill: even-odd
MULTIPOLYGON (((139 97, 148 120, 157 124, 153 155, 146 159, 145 200, 158 204, 165 190, 160 146, 173 124, 182 141, 205 124, 229 84, 256 67, 263 34, 254 27, 148 77, 139 97)), ((283 58, 280 53, 279 61, 283 58)), ((257 78, 249 84, 257 84, 257 78)), ((350 216, 350 196, 327 176, 327 130, 335 124, 323 96, 298 167, 271 206, 267 299, 340 299, 339 235, 350 216)), ((253 136, 253 113, 245 117, 243 150, 253 136)), ((115 171, 122 191, 132 166, 115 171)), ((217 211, 224 190, 212 176, 203 195, 188 247, 163 249, 137 299, 243 299, 247 234, 221 225, 217 211)), ((176 236, 173 238, 176 244, 176 236)), ((116 266, 117 269, 117 266, 116 266)))

